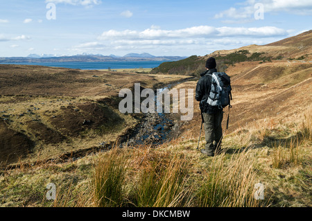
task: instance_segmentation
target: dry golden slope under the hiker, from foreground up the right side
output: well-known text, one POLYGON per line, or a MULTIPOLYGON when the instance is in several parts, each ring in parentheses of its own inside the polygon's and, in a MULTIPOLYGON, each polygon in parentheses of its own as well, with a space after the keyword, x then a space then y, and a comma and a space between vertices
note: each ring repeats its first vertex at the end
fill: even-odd
MULTIPOLYGON (((207 157, 196 149, 201 117, 194 100, 193 120, 177 118, 177 138, 157 148, 117 145, 62 163, 0 171, 0 206, 112 206, 117 196, 118 207, 311 207, 311 67, 241 62, 228 72, 233 108, 229 130, 223 120, 222 154, 207 157), (51 182, 58 190, 54 201, 46 200, 51 182), (254 199, 255 184, 265 187, 263 200, 254 199), (101 191, 116 186, 117 193, 101 191)), ((194 81, 175 86, 195 87, 194 81)), ((20 135, 14 138, 21 141, 20 135)), ((204 146, 202 132, 199 149, 204 146)))

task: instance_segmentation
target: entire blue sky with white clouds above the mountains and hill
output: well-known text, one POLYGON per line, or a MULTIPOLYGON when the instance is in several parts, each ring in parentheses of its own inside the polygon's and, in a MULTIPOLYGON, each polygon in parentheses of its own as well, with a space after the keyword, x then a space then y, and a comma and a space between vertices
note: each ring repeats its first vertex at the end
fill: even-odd
POLYGON ((312 0, 0 2, 0 57, 202 56, 312 29, 312 0))

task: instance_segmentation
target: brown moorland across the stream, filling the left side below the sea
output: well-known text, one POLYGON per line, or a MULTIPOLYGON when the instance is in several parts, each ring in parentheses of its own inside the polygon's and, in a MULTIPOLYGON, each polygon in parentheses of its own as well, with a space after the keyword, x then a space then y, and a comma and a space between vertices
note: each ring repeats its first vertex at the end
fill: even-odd
POLYGON ((186 78, 0 65, 0 168, 110 145, 139 123, 119 112, 119 91, 186 78), (138 80, 139 79, 139 80, 138 80))

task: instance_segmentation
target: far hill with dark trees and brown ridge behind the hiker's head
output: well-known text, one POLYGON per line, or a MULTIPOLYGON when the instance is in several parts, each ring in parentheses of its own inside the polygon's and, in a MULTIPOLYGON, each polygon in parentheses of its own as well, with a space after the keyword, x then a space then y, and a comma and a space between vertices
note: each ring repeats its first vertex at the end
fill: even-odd
POLYGON ((250 45, 232 50, 215 51, 209 55, 193 55, 178 62, 164 62, 151 73, 182 74, 199 76, 205 71, 205 61, 216 58, 219 71, 226 71, 230 65, 239 62, 272 62, 279 60, 300 62, 312 61, 312 30, 263 46, 250 45))

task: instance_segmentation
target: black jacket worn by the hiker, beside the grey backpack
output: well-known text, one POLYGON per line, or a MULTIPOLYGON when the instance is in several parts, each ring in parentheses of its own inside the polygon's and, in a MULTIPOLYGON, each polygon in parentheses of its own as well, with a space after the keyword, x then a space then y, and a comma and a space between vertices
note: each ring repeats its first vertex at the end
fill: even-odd
POLYGON ((215 114, 216 112, 222 111, 222 109, 218 109, 218 107, 212 107, 207 104, 207 99, 211 89, 211 76, 208 74, 212 74, 214 72, 217 72, 217 69, 209 69, 208 71, 201 73, 201 78, 198 80, 196 85, 195 98, 197 101, 200 101, 200 109, 203 113, 215 114))

